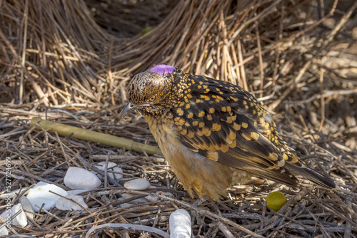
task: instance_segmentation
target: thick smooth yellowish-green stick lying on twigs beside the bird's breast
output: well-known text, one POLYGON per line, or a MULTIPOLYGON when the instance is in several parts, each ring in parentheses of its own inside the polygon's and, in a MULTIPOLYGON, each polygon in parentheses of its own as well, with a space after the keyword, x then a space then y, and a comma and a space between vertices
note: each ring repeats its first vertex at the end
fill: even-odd
POLYGON ((32 118, 30 126, 33 127, 34 125, 36 125, 37 130, 42 130, 41 128, 44 128, 45 130, 48 130, 49 133, 54 133, 56 131, 61 136, 67 136, 73 133, 73 138, 81 140, 110 145, 116 148, 125 148, 126 150, 134 150, 138 152, 145 151, 149 155, 161 154, 161 150, 155 146, 137 143, 134 140, 119 138, 114 135, 106 135, 91 130, 84 130, 71 125, 54 123, 49 120, 41 120, 40 118, 32 118), (36 125, 36 123, 41 125, 41 127, 36 125))

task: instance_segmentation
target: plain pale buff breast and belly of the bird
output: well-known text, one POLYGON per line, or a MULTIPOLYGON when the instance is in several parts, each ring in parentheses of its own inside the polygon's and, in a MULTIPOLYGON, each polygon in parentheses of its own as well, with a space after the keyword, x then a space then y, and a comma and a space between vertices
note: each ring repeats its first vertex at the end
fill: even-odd
POLYGON ((232 183, 231 168, 189 150, 181 143, 171 120, 154 117, 146 117, 146 120, 164 157, 191 197, 192 190, 199 197, 208 195, 213 200, 226 195, 226 189, 232 183))

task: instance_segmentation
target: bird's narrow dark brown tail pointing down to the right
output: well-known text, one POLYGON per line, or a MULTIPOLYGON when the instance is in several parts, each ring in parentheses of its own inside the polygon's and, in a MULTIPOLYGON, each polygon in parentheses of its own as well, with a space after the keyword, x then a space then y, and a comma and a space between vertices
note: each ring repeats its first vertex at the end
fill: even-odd
POLYGON ((298 167, 296 165, 290 164, 286 162, 285 167, 290 170, 294 175, 301 175, 303 178, 310 180, 311 182, 316 183, 316 185, 320 185, 321 187, 326 187, 332 190, 338 190, 340 187, 331 180, 331 178, 326 177, 320 172, 316 172, 305 165, 298 167))

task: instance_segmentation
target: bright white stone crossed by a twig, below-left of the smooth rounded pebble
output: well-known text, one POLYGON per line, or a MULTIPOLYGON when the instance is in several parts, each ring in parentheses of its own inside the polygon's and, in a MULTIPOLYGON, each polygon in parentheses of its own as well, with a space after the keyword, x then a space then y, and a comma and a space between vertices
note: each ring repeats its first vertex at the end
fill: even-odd
POLYGON ((34 208, 35 212, 39 212, 39 207, 41 207, 42 204, 45 204, 44 209, 46 210, 49 210, 56 205, 57 200, 59 200, 59 196, 49 191, 56 192, 61 196, 67 195, 67 192, 61 189, 61 187, 50 185, 42 181, 37 183, 34 187, 32 187, 31 191, 26 196, 31 202, 32 208, 34 208))

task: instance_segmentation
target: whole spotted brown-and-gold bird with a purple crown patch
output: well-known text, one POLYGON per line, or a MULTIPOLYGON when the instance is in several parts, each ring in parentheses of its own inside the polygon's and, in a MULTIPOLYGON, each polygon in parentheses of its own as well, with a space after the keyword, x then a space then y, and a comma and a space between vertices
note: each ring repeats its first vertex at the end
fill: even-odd
POLYGON ((164 157, 193 196, 218 200, 251 175, 296 187, 302 175, 335 188, 306 167, 276 131, 271 115, 250 93, 231 83, 159 65, 129 83, 131 110, 144 115, 164 157))

